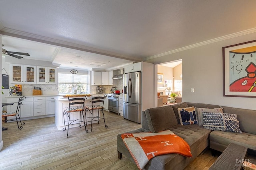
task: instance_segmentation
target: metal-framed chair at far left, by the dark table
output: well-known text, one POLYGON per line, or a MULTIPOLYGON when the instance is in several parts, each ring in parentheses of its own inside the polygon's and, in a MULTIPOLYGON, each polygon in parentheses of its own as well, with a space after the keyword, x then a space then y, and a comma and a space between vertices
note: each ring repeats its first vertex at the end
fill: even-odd
POLYGON ((15 118, 11 118, 11 119, 8 119, 8 120, 2 120, 2 122, 6 122, 6 121, 16 121, 17 122, 17 125, 18 125, 18 128, 19 129, 22 129, 23 127, 21 126, 21 125, 25 125, 25 122, 21 122, 21 120, 20 120, 20 115, 19 115, 19 111, 20 111, 20 105, 22 104, 22 100, 24 100, 24 99, 26 99, 26 97, 25 96, 23 96, 23 97, 20 97, 19 98, 19 101, 18 101, 18 105, 17 105, 17 109, 16 109, 16 112, 7 112, 7 113, 3 113, 2 112, 2 118, 3 117, 9 117, 9 116, 15 116, 15 118), (19 126, 19 123, 18 123, 18 121, 20 122, 20 126, 19 126))

